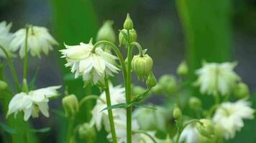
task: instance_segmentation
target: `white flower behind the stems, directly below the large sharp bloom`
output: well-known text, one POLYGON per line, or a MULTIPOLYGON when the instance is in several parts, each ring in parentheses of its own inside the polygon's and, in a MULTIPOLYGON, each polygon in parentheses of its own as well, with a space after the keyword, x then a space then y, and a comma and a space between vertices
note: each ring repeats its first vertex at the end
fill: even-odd
MULTIPOLYGON (((110 92, 110 99, 111 104, 120 104, 125 103, 125 93, 124 88, 119 86, 112 87, 109 86, 109 92, 110 92)), ((108 131, 109 128, 109 117, 108 117, 108 111, 104 110, 101 112, 102 109, 106 108, 106 94, 103 92, 100 95, 100 99, 96 101, 95 107, 91 110, 92 114, 92 120, 94 124, 96 125, 96 129, 99 131, 101 130, 101 124, 104 122, 105 129, 108 131)), ((126 109, 112 109, 113 117, 114 119, 121 119, 126 117, 126 109)))

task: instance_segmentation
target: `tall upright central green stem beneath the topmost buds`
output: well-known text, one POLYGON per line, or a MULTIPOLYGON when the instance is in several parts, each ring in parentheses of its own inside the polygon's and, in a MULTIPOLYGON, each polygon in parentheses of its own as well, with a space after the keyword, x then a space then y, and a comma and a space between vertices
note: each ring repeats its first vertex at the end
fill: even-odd
MULTIPOLYGON (((127 31, 129 39, 129 30, 127 31)), ((127 53, 127 87, 126 100, 127 104, 132 102, 132 46, 128 41, 128 53, 127 53)), ((127 107, 127 143, 132 143, 132 106, 127 107)))

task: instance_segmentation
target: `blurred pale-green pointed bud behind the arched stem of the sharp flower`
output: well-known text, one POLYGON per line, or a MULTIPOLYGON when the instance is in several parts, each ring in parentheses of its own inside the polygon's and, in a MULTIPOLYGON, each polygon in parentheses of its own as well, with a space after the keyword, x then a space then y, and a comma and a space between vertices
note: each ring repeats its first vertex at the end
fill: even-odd
POLYGON ((113 24, 113 21, 106 21, 99 29, 96 41, 106 40, 111 41, 112 43, 116 42, 116 34, 114 33, 114 29, 112 28, 113 24))

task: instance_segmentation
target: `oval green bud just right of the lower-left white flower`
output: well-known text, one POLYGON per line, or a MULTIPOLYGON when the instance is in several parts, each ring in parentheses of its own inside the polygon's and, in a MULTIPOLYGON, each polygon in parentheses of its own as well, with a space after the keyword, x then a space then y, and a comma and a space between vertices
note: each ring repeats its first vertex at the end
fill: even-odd
POLYGON ((76 95, 70 94, 63 98, 63 108, 66 117, 73 117, 79 111, 79 104, 76 95))

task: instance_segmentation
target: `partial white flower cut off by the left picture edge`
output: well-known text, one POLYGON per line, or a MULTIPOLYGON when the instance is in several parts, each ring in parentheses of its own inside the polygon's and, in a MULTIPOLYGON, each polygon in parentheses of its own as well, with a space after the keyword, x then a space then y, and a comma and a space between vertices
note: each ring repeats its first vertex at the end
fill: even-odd
MULTIPOLYGON (((0 46, 3 46, 4 49, 9 53, 9 56, 14 56, 9 49, 10 43, 13 39, 13 34, 10 33, 10 29, 12 27, 12 23, 6 24, 6 21, 2 21, 0 23, 0 46)), ((6 57, 4 51, 0 49, 0 57, 6 57)))

